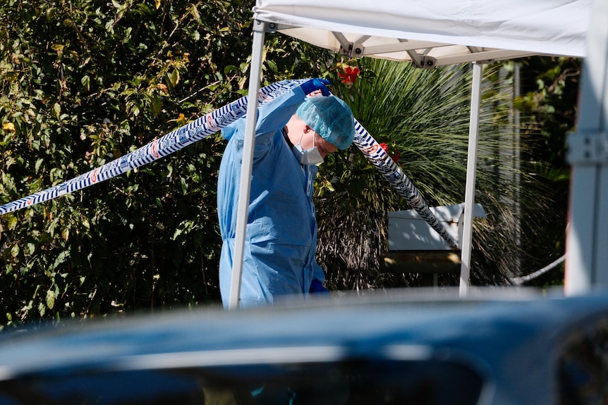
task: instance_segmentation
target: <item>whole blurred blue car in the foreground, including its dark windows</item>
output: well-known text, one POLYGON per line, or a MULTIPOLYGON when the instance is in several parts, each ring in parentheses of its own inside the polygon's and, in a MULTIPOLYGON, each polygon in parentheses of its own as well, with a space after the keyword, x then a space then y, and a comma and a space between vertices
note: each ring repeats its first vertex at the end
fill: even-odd
POLYGON ((608 294, 394 291, 9 332, 0 404, 602 404, 608 294))

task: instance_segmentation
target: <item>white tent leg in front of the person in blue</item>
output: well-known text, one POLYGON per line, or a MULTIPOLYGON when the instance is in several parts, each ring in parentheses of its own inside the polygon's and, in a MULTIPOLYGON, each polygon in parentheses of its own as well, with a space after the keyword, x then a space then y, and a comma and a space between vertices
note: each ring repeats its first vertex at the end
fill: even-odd
POLYGON ((245 230, 249 214, 249 197, 251 191, 251 173, 253 170, 253 150, 255 147, 255 124, 257 121, 257 94, 260 92, 262 73, 262 52, 264 50, 265 23, 254 21, 253 49, 249 73, 249 92, 247 104, 247 123, 245 125, 245 142, 243 144, 243 166, 241 166, 241 188, 238 194, 238 211, 236 213, 236 237, 232 279, 230 285, 229 309, 237 309, 241 297, 241 275, 245 251, 245 230))

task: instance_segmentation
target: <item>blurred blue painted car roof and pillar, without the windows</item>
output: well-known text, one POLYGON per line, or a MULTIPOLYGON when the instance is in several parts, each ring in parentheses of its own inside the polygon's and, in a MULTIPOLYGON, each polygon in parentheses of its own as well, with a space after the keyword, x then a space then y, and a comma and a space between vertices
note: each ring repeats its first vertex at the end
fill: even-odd
POLYGON ((257 310, 166 311, 4 334, 0 381, 79 368, 439 359, 479 373, 487 403, 546 404, 554 398, 559 352, 607 319, 603 292, 564 297, 502 289, 466 299, 399 290, 257 310))

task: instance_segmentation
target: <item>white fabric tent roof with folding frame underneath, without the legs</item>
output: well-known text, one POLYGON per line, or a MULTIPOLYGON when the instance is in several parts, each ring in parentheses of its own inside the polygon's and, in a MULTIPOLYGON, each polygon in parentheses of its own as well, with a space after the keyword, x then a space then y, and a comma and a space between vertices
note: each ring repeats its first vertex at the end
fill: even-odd
POLYGON ((420 67, 584 57, 592 0, 257 0, 256 20, 347 56, 420 67))

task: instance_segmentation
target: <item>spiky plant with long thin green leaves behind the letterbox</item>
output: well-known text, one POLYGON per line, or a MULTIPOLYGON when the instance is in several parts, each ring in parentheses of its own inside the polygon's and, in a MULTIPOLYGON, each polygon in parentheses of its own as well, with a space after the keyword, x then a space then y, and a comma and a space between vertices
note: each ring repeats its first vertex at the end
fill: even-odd
MULTIPOLYGON (((354 85, 336 84, 355 118, 392 155, 429 206, 464 201, 470 118, 470 66, 434 70, 406 63, 363 58, 354 85)), ((529 175, 521 150, 528 139, 509 123, 512 87, 501 65, 486 66, 480 111, 475 202, 487 219, 475 220, 474 285, 504 285, 525 266, 526 240, 538 240, 542 225, 554 220, 551 193, 529 175), (523 265, 521 266, 521 263, 523 265)), ((415 275, 384 273, 379 258, 387 250, 387 212, 411 208, 375 168, 351 147, 324 164, 317 185, 320 218, 319 261, 333 289, 417 285, 415 275)), ((538 242, 536 242, 538 243, 538 242)), ((442 285, 455 285, 444 275, 442 285)))

